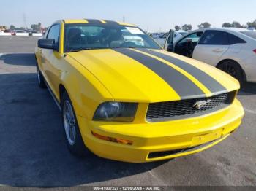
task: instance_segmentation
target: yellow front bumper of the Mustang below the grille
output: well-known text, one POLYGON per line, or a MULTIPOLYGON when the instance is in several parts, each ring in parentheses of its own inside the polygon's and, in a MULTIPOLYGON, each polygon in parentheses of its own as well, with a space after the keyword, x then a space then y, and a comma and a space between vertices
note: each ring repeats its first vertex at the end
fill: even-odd
POLYGON ((208 149, 236 130, 243 116, 244 109, 240 102, 235 100, 225 109, 185 120, 110 123, 89 121, 78 116, 78 124, 86 147, 95 155, 143 163, 181 157, 208 149), (133 144, 125 145, 98 139, 91 131, 102 136, 130 140, 133 144), (174 152, 170 152, 173 150, 174 152))

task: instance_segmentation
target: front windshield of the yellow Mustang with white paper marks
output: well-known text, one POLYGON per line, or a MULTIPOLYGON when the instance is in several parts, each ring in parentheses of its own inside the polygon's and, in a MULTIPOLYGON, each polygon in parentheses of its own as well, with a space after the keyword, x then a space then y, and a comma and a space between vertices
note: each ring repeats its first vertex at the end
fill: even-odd
POLYGON ((110 24, 66 24, 65 52, 102 48, 160 49, 140 28, 110 24))

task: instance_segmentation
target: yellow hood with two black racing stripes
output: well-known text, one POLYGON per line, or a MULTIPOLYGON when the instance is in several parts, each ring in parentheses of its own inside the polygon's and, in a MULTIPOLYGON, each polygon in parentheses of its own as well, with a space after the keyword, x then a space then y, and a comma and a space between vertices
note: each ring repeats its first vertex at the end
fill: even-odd
POLYGON ((159 102, 203 98, 238 90, 219 69, 165 50, 99 49, 67 53, 116 101, 159 102))

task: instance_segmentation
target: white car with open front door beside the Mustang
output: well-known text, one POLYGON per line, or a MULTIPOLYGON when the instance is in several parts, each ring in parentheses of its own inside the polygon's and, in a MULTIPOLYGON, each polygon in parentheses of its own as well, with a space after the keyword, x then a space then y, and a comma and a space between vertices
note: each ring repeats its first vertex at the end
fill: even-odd
POLYGON ((256 82, 256 32, 246 28, 202 28, 178 41, 173 31, 167 36, 165 50, 226 71, 243 82, 256 82))

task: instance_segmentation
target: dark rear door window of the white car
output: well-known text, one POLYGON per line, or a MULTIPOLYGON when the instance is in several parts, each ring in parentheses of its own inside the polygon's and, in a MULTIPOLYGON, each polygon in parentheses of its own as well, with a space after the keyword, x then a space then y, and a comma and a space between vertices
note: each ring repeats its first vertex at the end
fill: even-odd
POLYGON ((228 34, 222 31, 206 31, 198 44, 228 45, 228 34))

